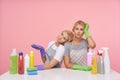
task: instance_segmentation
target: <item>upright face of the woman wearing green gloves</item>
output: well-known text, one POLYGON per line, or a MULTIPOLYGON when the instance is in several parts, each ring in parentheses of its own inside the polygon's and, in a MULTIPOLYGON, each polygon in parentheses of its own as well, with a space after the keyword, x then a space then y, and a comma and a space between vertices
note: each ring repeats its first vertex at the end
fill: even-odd
POLYGON ((74 34, 75 34, 75 38, 81 38, 84 34, 84 27, 81 26, 81 25, 77 25, 75 28, 74 28, 74 34))

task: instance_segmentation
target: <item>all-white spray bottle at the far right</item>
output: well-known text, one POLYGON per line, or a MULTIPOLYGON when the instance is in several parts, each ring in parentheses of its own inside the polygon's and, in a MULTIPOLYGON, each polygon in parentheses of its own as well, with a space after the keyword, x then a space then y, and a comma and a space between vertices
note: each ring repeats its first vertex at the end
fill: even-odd
POLYGON ((104 51, 104 69, 105 69, 105 74, 110 73, 110 59, 108 56, 108 49, 107 47, 102 47, 104 51))

